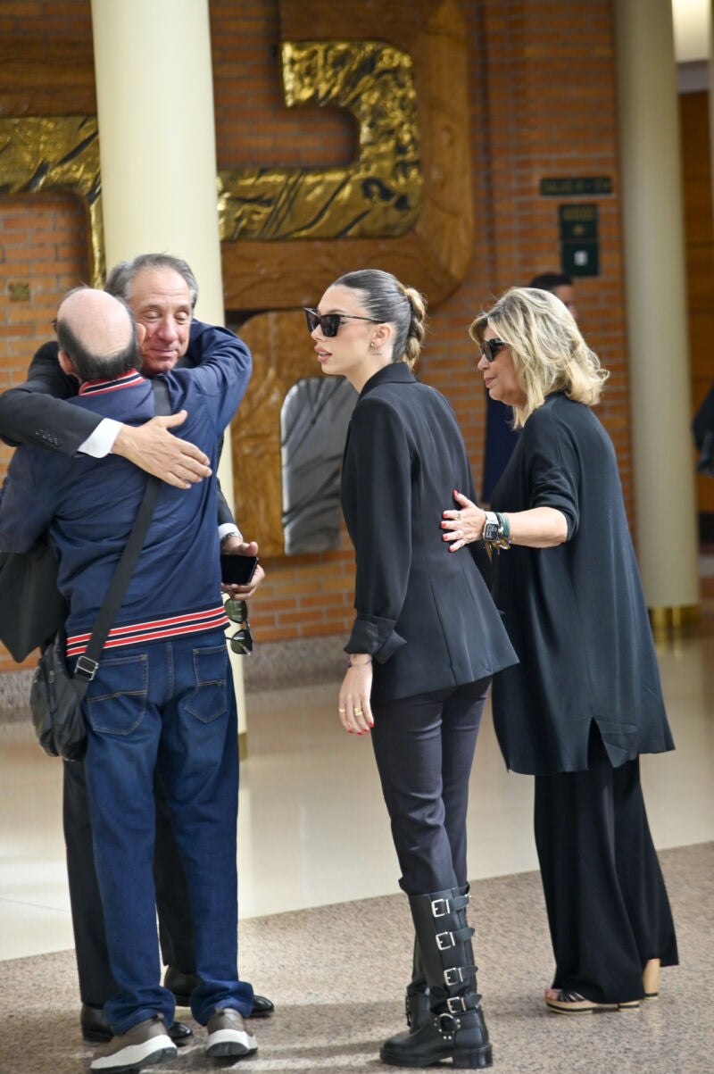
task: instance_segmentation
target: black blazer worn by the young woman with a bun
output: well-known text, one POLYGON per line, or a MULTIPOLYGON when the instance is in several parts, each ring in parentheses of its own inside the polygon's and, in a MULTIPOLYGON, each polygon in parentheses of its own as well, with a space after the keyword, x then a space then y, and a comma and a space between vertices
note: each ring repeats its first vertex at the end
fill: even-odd
POLYGON ((441 512, 475 498, 445 397, 407 365, 380 369, 350 420, 341 502, 354 546, 356 619, 348 653, 374 656, 373 700, 483 679, 516 662, 475 560, 449 552, 441 512))

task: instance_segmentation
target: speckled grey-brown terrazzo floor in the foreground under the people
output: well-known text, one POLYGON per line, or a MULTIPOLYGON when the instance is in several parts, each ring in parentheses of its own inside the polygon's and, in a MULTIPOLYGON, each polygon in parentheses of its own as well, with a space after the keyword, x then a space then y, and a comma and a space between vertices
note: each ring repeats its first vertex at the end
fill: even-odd
MULTIPOLYGON (((551 952, 537 873, 477 881, 470 920, 479 989, 500 1074, 705 1074, 713 1069, 714 843, 661 853, 681 966, 664 970, 661 993, 639 1010, 564 1017, 549 1013, 551 952)), ((381 1042, 404 1025, 411 928, 402 895, 334 903, 243 921, 243 973, 276 1003, 250 1022, 258 1053, 237 1062, 204 1055, 205 1033, 165 1074, 236 1069, 343 1074, 391 1071, 381 1042)), ((2 1074, 76 1074, 90 1046, 79 1039, 73 954, 2 964, 2 1074)), ((190 1017, 184 1014, 190 1022, 190 1017)), ((447 1064, 448 1065, 448 1064, 447 1064)))

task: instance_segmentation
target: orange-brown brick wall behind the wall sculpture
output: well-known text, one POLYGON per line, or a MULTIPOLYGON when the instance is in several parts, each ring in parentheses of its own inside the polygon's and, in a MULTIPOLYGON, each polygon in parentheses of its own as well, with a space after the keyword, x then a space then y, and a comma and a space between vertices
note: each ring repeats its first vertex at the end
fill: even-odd
MULTIPOLYGON (((432 309, 421 375, 453 404, 478 487, 484 400, 467 326, 505 288, 559 266, 558 202, 540 197, 540 179, 610 176, 615 191, 612 197, 581 199, 598 204, 601 275, 579 280, 578 306, 588 342, 613 372, 600 413, 617 447, 631 508, 611 2, 461 0, 461 9, 470 46, 470 115, 464 116, 464 124, 470 127, 473 146, 476 242, 466 279, 432 309)), ((290 110, 282 103, 278 4, 274 0, 244 0, 241 4, 212 0, 210 18, 219 166, 317 168, 350 160, 355 146, 351 117, 330 110, 290 110)), ((375 35, 379 35, 378 25, 375 35)), ((53 46, 72 43, 76 62, 84 63, 86 71, 85 61, 91 60, 89 0, 4 3, 0 11, 3 47, 12 49, 13 41, 20 38, 24 45, 39 42, 48 53, 53 46)), ((2 71, 0 66, 0 82, 2 71)), ((83 100, 87 97, 85 89, 83 100)), ((448 168, 449 161, 440 164, 448 168)), ((45 294, 41 285, 45 286, 49 268, 56 273, 52 302, 64 287, 83 278, 83 220, 71 202, 40 204, 35 195, 0 200, 0 212, 3 221, 10 222, 9 213, 16 214, 18 221, 34 221, 25 226, 21 242, 24 252, 32 251, 26 264, 33 294, 45 294), (55 206, 52 212, 50 205, 55 206), (52 213, 56 214, 54 220, 52 213), (49 237, 55 226, 63 229, 63 237, 49 237), (35 251, 42 252, 42 260, 35 251), (67 258, 61 272, 56 264, 59 256, 67 258), (48 265, 47 258, 55 264, 48 265)), ((3 317, 13 309, 8 293, 13 235, 12 228, 2 228, 3 317)), ((346 263, 345 267, 359 266, 346 263)), ((18 303, 13 309, 13 322, 25 335, 18 331, 2 337, 3 347, 12 344, 15 349, 2 351, 0 387, 20 375, 23 359, 30 355, 34 338, 46 337, 52 317, 47 311, 49 291, 46 293, 42 307, 30 305, 23 314, 18 303)), ((228 315, 234 321, 241 311, 229 310, 228 315)), ((9 322, 2 323, 6 326, 9 322)), ((239 520, 239 504, 237 516, 239 520)), ((260 539, 260 534, 249 536, 260 539)), ((338 551, 273 558, 265 567, 267 580, 260 598, 251 603, 251 624, 259 640, 341 634, 349 628, 352 552, 344 532, 338 551)), ((0 668, 3 666, 0 663, 0 668)))

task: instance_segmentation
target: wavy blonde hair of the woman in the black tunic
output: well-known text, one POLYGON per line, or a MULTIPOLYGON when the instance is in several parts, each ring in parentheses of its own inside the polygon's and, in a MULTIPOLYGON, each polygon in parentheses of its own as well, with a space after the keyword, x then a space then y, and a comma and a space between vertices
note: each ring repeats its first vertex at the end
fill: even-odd
POLYGON ((468 330, 479 346, 486 326, 508 347, 526 402, 513 407, 513 427, 525 424, 551 392, 595 406, 610 376, 583 339, 570 311, 550 291, 512 287, 468 330))

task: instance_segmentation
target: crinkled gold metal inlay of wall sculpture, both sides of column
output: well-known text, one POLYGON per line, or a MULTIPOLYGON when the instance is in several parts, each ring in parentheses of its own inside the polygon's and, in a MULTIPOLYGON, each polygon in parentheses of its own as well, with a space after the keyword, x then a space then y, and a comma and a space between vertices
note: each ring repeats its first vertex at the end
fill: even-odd
MULTIPOLYGON (((417 90, 408 55, 383 42, 282 45, 288 104, 348 108, 360 127, 348 168, 218 173, 221 238, 286 242, 402 235, 419 217, 417 90)), ((70 191, 88 211, 92 281, 105 274, 96 117, 0 119, 0 192, 70 191)), ((264 248, 264 247, 263 247, 264 248)), ((275 300, 275 295, 274 295, 275 300)), ((239 308, 245 308, 244 301, 239 308)))

